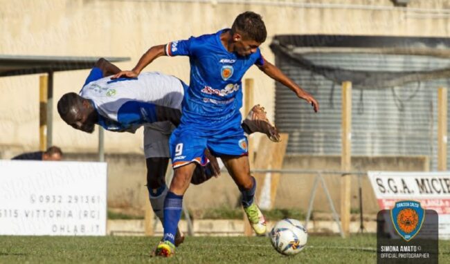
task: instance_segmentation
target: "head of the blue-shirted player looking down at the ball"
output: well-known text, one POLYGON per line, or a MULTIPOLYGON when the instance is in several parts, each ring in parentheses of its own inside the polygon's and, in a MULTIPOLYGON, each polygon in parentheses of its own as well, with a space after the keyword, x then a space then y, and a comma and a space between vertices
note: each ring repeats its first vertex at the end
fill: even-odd
POLYGON ((236 17, 230 33, 233 38, 234 52, 240 56, 255 53, 267 37, 262 17, 250 11, 243 12, 236 17))

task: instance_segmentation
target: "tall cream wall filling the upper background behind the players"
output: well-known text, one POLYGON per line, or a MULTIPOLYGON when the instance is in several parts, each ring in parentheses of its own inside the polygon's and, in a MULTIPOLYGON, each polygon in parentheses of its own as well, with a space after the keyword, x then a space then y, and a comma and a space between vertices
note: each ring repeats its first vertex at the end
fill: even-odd
MULTIPOLYGON (((411 0, 406 9, 393 7, 390 0, 231 2, 0 0, 0 54, 124 56, 132 62, 118 66, 129 69, 150 46, 216 32, 231 26, 244 10, 264 17, 269 37, 261 49, 270 62, 274 62, 269 48, 274 35, 450 36, 450 1, 444 0, 411 0)), ((160 58, 146 70, 189 79, 186 57, 160 58)), ((88 70, 56 73, 55 100, 66 92, 79 91, 87 74, 88 70)), ((245 77, 255 78, 254 101, 266 106, 273 118, 273 81, 256 68, 245 77)), ((37 75, 0 78, 0 148, 4 151, 30 151, 39 146, 38 85, 37 75)), ((54 144, 64 151, 96 150, 96 133, 71 129, 60 120, 55 105, 53 110, 54 144)), ((142 132, 107 132, 105 147, 108 153, 141 153, 142 132)), ((8 158, 8 153, 3 156, 8 158)))

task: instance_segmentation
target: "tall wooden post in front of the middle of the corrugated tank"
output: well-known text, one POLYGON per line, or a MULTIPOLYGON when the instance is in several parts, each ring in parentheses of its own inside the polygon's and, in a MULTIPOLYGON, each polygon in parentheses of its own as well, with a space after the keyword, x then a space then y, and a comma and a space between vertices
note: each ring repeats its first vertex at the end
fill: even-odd
MULTIPOLYGON (((342 84, 342 152, 341 170, 350 171, 352 157, 352 83, 342 84)), ((350 175, 341 177, 341 224, 345 236, 350 235, 350 175)))

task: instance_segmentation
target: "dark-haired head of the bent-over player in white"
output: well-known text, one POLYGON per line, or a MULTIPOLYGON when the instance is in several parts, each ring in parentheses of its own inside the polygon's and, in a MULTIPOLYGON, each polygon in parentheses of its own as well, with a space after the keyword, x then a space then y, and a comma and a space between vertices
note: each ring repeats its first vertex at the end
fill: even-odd
POLYGON ((86 98, 76 93, 62 95, 57 103, 58 113, 64 122, 87 133, 92 133, 98 120, 96 109, 86 98))

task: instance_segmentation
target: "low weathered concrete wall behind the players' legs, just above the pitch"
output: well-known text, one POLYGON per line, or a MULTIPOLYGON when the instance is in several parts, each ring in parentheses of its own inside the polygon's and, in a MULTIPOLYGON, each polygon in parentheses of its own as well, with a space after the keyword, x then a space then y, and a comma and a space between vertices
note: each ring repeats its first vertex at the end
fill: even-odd
MULTIPOLYGON (((18 153, 11 153, 18 154, 18 153)), ((0 157, 2 158, 2 157, 0 157)), ((96 161, 95 153, 66 153, 65 160, 96 161)), ((128 209, 139 213, 147 205, 147 187, 145 159, 143 155, 108 154, 108 206, 128 209)), ((352 171, 385 170, 385 171, 428 171, 429 160, 425 157, 353 157, 352 171)), ((339 171, 341 158, 338 156, 310 157, 303 155, 288 155, 283 169, 328 170, 339 171), (325 168, 325 169, 324 169, 325 168)), ((167 178, 170 179, 171 169, 167 178)), ((330 191, 336 209, 339 211, 340 177, 339 175, 324 175, 327 188, 330 191)), ((276 196, 276 208, 298 208, 307 210, 314 175, 286 174, 282 175, 276 196)), ((262 182, 258 182, 262 185, 262 182)), ((352 176, 352 208, 359 208, 357 176, 352 176)), ((363 210, 365 213, 378 211, 377 200, 366 176, 361 177, 363 189, 363 210)), ((184 202, 190 209, 205 209, 239 205, 240 193, 235 183, 228 175, 222 173, 219 178, 213 178, 202 185, 190 185, 184 202)), ((314 210, 330 212, 325 193, 321 187, 316 192, 314 210)))

